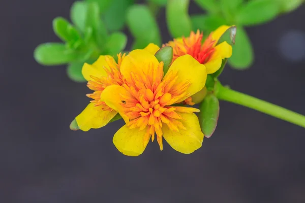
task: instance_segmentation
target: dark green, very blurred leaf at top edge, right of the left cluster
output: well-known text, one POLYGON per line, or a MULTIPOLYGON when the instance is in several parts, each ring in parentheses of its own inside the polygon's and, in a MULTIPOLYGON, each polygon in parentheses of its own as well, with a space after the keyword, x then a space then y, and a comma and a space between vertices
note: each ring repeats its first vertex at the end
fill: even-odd
POLYGON ((127 9, 134 4, 134 0, 113 0, 105 11, 103 19, 110 32, 120 30, 126 21, 127 9))

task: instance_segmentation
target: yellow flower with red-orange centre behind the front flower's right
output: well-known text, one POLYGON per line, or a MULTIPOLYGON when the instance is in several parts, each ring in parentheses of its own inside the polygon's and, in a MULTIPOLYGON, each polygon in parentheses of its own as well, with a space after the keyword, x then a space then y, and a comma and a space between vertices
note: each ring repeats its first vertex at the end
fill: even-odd
POLYGON ((226 25, 219 27, 211 32, 203 43, 203 33, 197 30, 196 33, 192 31, 190 37, 174 39, 166 45, 173 47, 173 60, 189 54, 205 65, 207 74, 212 74, 220 69, 224 58, 229 58, 232 55, 232 47, 227 42, 217 45, 220 37, 228 28, 229 26, 226 25))

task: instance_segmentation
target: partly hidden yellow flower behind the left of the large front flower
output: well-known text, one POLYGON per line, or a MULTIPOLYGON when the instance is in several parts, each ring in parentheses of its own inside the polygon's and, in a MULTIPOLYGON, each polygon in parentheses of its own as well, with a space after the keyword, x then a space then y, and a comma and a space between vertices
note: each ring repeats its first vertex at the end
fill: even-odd
POLYGON ((125 54, 118 54, 118 63, 116 63, 111 56, 100 56, 92 65, 88 63, 83 65, 82 75, 88 81, 89 89, 95 92, 87 94, 94 100, 90 101, 90 104, 75 118, 79 129, 88 131, 91 128, 103 127, 117 114, 104 101, 101 101, 100 97, 106 87, 124 83, 119 71, 120 63, 124 57, 125 54))

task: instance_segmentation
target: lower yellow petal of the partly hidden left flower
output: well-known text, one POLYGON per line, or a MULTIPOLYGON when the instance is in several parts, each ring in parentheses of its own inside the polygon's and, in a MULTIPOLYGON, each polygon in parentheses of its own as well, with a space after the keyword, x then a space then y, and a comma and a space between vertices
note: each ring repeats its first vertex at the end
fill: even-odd
POLYGON ((88 131, 91 128, 105 126, 117 114, 116 111, 104 111, 90 103, 75 119, 79 129, 88 131))

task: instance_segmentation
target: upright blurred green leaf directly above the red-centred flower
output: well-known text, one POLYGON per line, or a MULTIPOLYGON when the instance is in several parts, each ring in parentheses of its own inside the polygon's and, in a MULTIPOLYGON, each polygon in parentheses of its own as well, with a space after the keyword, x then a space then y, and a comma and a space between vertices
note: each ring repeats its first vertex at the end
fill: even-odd
POLYGON ((174 38, 190 35, 192 22, 188 13, 189 3, 189 0, 168 0, 167 2, 166 22, 174 38))

